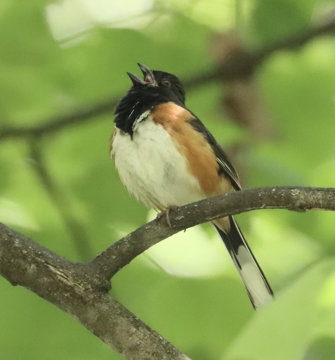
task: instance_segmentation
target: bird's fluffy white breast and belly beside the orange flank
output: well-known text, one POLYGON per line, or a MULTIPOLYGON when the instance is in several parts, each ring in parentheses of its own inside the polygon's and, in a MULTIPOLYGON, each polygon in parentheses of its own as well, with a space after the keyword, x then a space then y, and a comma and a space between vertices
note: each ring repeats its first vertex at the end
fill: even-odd
POLYGON ((116 129, 111 156, 128 192, 148 207, 164 210, 205 198, 187 159, 151 115, 137 123, 133 139, 116 129))

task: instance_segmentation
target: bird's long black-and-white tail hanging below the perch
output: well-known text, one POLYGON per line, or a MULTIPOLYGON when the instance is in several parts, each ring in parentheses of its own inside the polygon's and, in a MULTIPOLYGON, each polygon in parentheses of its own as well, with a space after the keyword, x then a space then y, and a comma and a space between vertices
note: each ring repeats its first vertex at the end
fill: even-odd
POLYGON ((230 230, 226 232, 218 227, 218 223, 214 226, 233 259, 252 306, 257 310, 271 300, 273 292, 233 216, 229 216, 229 222, 230 230))

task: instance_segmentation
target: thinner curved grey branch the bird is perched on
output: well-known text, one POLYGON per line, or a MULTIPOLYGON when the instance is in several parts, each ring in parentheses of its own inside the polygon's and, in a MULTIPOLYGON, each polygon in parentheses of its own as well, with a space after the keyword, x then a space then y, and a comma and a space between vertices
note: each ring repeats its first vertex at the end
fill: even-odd
POLYGON ((334 188, 276 186, 244 189, 171 210, 171 228, 162 216, 141 226, 95 257, 91 264, 102 278, 111 278, 151 246, 187 228, 228 215, 260 209, 335 211, 334 188))

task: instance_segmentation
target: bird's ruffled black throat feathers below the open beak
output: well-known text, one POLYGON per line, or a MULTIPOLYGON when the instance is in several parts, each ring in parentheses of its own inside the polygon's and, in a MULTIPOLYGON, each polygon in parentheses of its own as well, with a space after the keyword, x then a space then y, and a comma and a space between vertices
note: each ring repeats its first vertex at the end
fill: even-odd
POLYGON ((168 102, 176 103, 182 107, 185 106, 168 89, 148 85, 133 86, 116 106, 115 125, 132 137, 134 122, 141 114, 153 109, 158 104, 168 102))

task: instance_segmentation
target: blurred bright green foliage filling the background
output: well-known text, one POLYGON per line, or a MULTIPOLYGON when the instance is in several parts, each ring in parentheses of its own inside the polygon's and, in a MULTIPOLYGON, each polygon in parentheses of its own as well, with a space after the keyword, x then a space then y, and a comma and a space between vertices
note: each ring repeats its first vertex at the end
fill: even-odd
MULTIPOLYGON (((216 32, 261 47, 303 31, 322 1, 0 2, 0 131, 117 99, 137 62, 181 78, 214 65, 216 32)), ((335 183, 335 41, 273 54, 255 82, 271 135, 222 113, 224 85, 187 105, 226 149, 244 187, 335 183), (231 151, 231 154, 233 152, 231 151)), ((109 158, 113 114, 36 138, 0 140, 0 221, 72 261, 147 221, 109 158)), ((152 216, 152 215, 151 215, 152 216)), ((178 234, 112 279, 111 294, 192 359, 334 359, 335 215, 266 210, 238 217, 276 294, 253 312, 209 225, 178 234), (170 241, 170 242, 169 242, 170 241), (160 248, 161 247, 161 248, 160 248)), ((0 278, 1 359, 119 359, 76 320, 0 278)))

